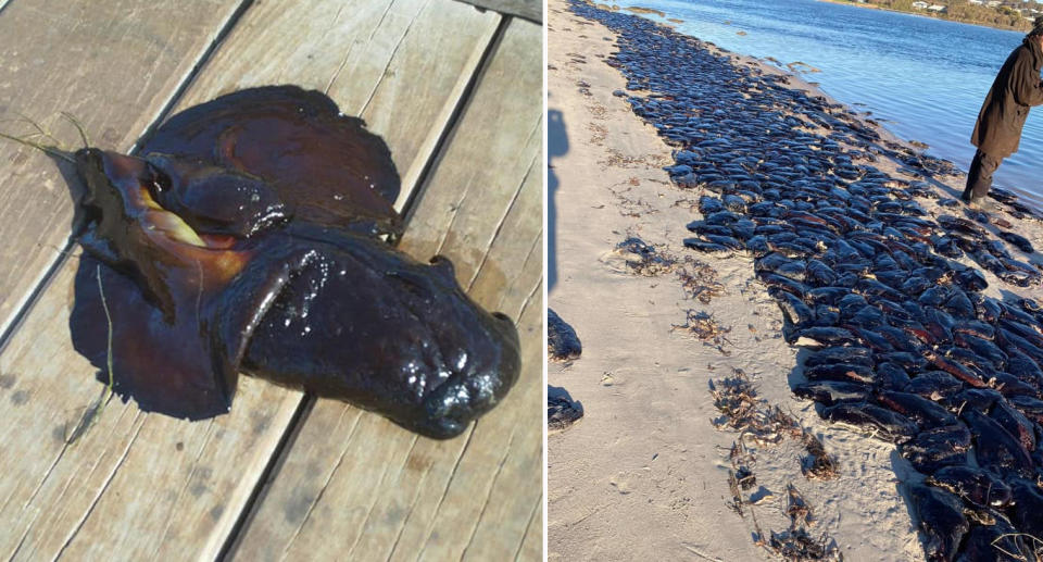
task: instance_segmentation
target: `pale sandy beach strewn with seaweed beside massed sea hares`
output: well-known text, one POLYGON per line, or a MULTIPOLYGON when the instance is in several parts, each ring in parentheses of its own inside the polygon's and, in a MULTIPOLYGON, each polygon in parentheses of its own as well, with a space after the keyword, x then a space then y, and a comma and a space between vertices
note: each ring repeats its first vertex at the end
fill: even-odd
MULTIPOLYGON (((751 257, 684 248, 704 192, 678 188, 663 170, 675 163, 674 149, 631 111, 626 96, 643 92, 626 90, 606 64, 616 49, 607 28, 563 0, 549 2, 549 305, 576 329, 583 352, 550 363, 548 378, 552 395, 567 392, 585 412, 548 439, 549 559, 775 560, 767 542, 790 528, 792 487, 814 514, 808 533, 844 559, 923 560, 902 486, 922 475, 894 445, 827 423, 814 402, 793 395, 807 352, 783 340, 782 313, 751 257), (617 248, 630 237, 649 245, 651 267, 648 253, 641 261, 617 248), (736 458, 740 433, 714 423, 721 412, 711 385, 720 390, 737 374, 752 383, 757 408, 778 407, 821 441, 833 477, 805 475, 799 437, 746 439, 736 458), (755 483, 739 490, 740 515, 729 471, 742 464, 755 483)), ((820 95, 795 76, 790 84, 820 95)), ((874 165, 923 179, 897 161, 874 165)), ((953 198, 964 180, 937 175, 930 189, 953 198)), ((935 199, 917 201, 932 214, 941 209, 935 199)), ((1036 246, 1043 239, 1038 223, 1008 220, 1036 246)), ((987 295, 1040 297, 1038 286, 985 276, 987 295)))

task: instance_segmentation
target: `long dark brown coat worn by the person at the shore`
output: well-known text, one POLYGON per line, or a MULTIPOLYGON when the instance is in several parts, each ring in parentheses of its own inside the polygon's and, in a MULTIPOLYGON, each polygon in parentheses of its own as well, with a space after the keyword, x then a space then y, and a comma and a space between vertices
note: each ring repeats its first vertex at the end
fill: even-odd
POLYGON ((1018 151, 1029 108, 1043 104, 1041 66, 1043 52, 1039 41, 1026 37, 1021 46, 1007 57, 992 83, 970 135, 971 145, 997 158, 1007 158, 1018 151))

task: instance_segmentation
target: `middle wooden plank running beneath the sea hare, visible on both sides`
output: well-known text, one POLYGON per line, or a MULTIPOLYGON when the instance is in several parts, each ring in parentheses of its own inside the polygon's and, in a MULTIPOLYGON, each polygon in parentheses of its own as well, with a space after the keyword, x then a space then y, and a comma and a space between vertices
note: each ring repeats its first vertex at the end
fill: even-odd
MULTIPOLYGON (((400 167, 409 170, 415 161, 430 158, 433 147, 425 149, 416 139, 440 136, 476 68, 479 57, 475 53, 485 51, 499 16, 449 0, 395 1, 375 11, 344 7, 339 16, 331 7, 340 4, 255 4, 179 104, 247 85, 334 85, 330 92, 345 112, 351 111, 345 100, 355 98, 368 100, 360 108, 373 116, 373 123, 397 112, 409 116, 412 134, 402 128, 385 135, 400 167), (441 26, 420 22, 426 18, 441 26), (311 33, 307 25, 315 22, 328 29, 311 33), (400 29, 399 39, 385 43, 392 24, 400 29), (366 33, 345 36, 344 28, 366 33), (413 73, 410 61, 432 48, 425 45, 438 46, 441 64, 424 67, 423 75, 413 73), (350 63, 345 57, 352 50, 386 53, 384 67, 401 72, 370 73, 368 78, 340 84, 338 75, 350 63), (307 59, 309 53, 321 51, 341 55, 307 59), (263 65, 252 58, 257 52, 269 57, 263 65), (272 59, 279 57, 281 62, 272 59), (316 59, 326 64, 294 65, 316 59), (399 75, 403 79, 420 76, 442 89, 417 87, 414 91, 427 95, 406 99, 393 93, 409 88, 388 82, 399 75)), ((66 425, 75 422, 100 389, 91 379, 92 369, 68 341, 76 265, 72 260, 59 271, 0 354, 0 415, 10 421, 0 427, 0 435, 5 444, 4 465, 12 465, 11 471, 0 471, 0 552, 18 560, 59 553, 101 558, 114 552, 163 560, 213 558, 286 432, 301 395, 242 379, 230 414, 197 423, 144 414, 134 403, 114 401, 80 441, 66 446, 66 425)), ((363 434, 387 424, 357 411, 345 413, 339 422, 363 434)), ((334 426, 335 430, 343 427, 334 426)), ((399 453, 392 448, 389 454, 399 453)))

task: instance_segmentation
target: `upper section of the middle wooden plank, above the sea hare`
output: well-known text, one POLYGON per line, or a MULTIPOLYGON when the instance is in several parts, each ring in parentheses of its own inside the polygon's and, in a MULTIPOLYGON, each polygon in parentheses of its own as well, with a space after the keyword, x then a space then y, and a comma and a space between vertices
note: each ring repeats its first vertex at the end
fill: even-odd
POLYGON ((342 112, 362 116, 369 130, 394 146, 401 205, 500 16, 450 0, 321 1, 310 10, 281 8, 253 8, 178 108, 268 84, 325 91, 342 112), (300 29, 304 40, 287 51, 285 43, 271 40, 281 29, 300 29))

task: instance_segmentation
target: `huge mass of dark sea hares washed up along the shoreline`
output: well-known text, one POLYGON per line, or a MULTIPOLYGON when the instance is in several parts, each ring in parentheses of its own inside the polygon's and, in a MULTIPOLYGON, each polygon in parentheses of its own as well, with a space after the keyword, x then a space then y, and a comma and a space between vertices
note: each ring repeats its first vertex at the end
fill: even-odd
MULTIPOLYGON (((675 147, 667 168, 702 190, 686 246, 754 258, 782 309, 783 336, 809 350, 794 392, 822 417, 897 444, 923 477, 900 488, 931 560, 1035 560, 1043 538, 1043 310, 985 276, 1036 286, 1023 237, 1001 213, 914 197, 950 164, 882 140, 855 115, 733 64, 696 39, 637 16, 574 2, 619 34, 608 64, 633 112, 675 147), (634 90, 640 90, 637 92, 634 90), (969 220, 968 220, 969 218, 969 220), (997 233, 998 234, 995 234, 997 233), (998 237, 997 237, 998 236, 998 237), (1020 255, 1021 258, 1016 258, 1020 255)), ((1038 220, 1009 193, 1006 214, 1038 220)))

